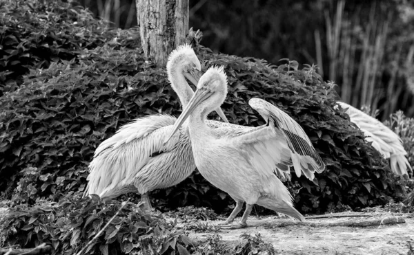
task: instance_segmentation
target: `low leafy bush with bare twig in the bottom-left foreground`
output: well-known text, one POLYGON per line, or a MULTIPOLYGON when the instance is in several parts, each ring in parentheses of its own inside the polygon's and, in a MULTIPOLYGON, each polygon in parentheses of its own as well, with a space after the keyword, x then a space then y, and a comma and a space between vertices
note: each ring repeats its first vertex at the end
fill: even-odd
POLYGON ((98 196, 81 199, 69 194, 59 203, 39 201, 32 208, 17 206, 10 208, 1 223, 1 238, 6 236, 8 245, 21 247, 46 243, 54 248, 53 254, 75 254, 83 248, 82 254, 128 254, 139 250, 144 254, 145 250, 151 254, 174 254, 190 243, 161 214, 144 212, 139 208, 141 203, 124 203, 122 207, 117 201, 106 203, 98 196), (99 234, 107 223, 108 227, 99 234), (97 234, 99 237, 89 244, 97 234))

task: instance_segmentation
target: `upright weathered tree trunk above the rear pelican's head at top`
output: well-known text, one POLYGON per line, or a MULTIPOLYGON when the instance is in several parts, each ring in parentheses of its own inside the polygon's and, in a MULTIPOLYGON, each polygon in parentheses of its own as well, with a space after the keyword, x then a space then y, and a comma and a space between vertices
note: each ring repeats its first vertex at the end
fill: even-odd
POLYGON ((136 0, 146 58, 165 66, 168 54, 186 40, 188 0, 136 0))

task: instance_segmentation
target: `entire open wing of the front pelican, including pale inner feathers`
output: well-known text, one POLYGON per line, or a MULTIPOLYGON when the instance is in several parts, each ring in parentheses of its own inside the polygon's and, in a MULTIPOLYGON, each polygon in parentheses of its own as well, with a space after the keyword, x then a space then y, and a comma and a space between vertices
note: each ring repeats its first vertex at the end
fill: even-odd
POLYGON ((253 98, 249 104, 262 115, 267 124, 233 131, 233 143, 246 154, 257 170, 264 171, 266 175, 275 173, 286 179, 289 177, 286 175, 289 173, 288 166, 292 165, 298 177, 304 173, 308 179, 313 179, 315 172, 321 173, 324 170, 324 162, 295 120, 264 100, 253 98))

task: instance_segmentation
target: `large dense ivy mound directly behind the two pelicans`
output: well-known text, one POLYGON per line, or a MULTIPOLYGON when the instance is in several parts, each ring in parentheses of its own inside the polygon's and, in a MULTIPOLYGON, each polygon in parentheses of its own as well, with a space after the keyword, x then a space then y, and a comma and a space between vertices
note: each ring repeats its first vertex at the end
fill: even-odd
MULTIPOLYGON (((42 10, 49 19, 61 14, 39 7, 36 14, 26 15, 37 16, 42 10)), ((81 13, 78 18, 86 16, 74 10, 81 13)), ((72 31, 69 26, 58 29, 55 34, 72 31)), ((88 30, 85 34, 95 32, 106 36, 101 45, 75 47, 71 60, 56 58, 46 69, 28 67, 21 87, 1 98, 3 197, 33 203, 40 197, 57 201, 62 193, 80 192, 95 148, 121 125, 154 113, 179 114, 181 107, 165 68, 143 58, 136 44, 137 31, 88 30)), ((96 36, 90 38, 94 41, 96 36)), ((337 100, 333 84, 324 82, 313 67, 298 69, 296 61, 288 60, 276 67, 255 58, 215 54, 204 47, 196 51, 204 69, 225 67, 229 92, 223 108, 231 122, 264 124, 247 104, 250 98, 263 98, 289 113, 311 137, 327 168, 314 181, 293 176, 288 185, 295 191, 299 210, 326 212, 402 198, 404 186, 389 173, 380 154, 364 142, 362 132, 344 111, 333 110, 337 100)), ((197 172, 179 186, 155 193, 157 206, 194 204, 223 210, 233 203, 197 172)))

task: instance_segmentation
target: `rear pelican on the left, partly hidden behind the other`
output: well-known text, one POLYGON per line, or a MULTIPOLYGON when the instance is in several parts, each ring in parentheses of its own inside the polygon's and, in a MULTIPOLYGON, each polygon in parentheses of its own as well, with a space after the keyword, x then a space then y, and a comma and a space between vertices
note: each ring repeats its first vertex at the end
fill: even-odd
MULTIPOLYGON (((199 71, 200 62, 189 45, 179 46, 170 54, 168 79, 183 107, 194 93, 186 78, 197 85, 199 71)), ((228 122, 220 108, 216 111, 228 122)), ((89 165, 89 182, 83 197, 97 194, 113 198, 137 192, 141 194, 141 201, 146 202, 144 206, 150 209, 148 192, 179 184, 195 170, 186 129, 180 129, 168 144, 163 144, 175 121, 171 115, 159 114, 121 126, 115 135, 96 149, 89 165)), ((209 126, 219 126, 219 123, 222 122, 207 122, 209 126)))

